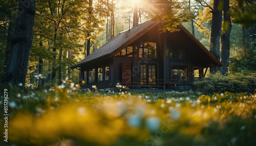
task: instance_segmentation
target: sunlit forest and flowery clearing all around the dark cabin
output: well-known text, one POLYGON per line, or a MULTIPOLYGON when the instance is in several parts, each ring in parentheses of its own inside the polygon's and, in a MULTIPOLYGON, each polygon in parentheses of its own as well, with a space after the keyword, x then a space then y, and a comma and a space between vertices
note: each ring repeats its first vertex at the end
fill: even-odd
POLYGON ((1 1, 0 89, 0 145, 256 145, 256 1, 1 1), (149 19, 223 66, 191 90, 85 88, 71 67, 149 19))

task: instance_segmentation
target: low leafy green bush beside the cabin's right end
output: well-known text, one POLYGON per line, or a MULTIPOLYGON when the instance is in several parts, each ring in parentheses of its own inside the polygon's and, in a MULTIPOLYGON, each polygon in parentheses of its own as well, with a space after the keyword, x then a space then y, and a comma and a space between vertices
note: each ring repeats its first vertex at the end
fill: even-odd
POLYGON ((243 72, 222 76, 220 74, 210 75, 201 81, 194 83, 199 92, 211 94, 215 92, 248 92, 253 93, 256 88, 256 73, 243 72))

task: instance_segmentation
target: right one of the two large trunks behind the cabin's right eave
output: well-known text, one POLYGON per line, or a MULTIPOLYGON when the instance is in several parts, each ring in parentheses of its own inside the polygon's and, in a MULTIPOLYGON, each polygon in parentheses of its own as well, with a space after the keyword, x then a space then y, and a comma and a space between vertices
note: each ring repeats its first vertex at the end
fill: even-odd
MULTIPOLYGON (((228 66, 229 66, 229 54, 230 54, 230 41, 229 36, 231 32, 231 18, 228 14, 229 11, 229 0, 224 1, 223 5, 223 14, 224 14, 224 24, 228 23, 228 28, 224 28, 226 30, 221 36, 221 63, 223 66, 220 68, 221 75, 228 74, 228 66)), ((224 27, 226 27, 224 25, 224 27)))

